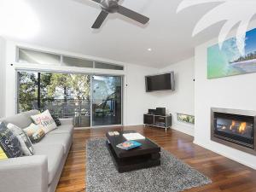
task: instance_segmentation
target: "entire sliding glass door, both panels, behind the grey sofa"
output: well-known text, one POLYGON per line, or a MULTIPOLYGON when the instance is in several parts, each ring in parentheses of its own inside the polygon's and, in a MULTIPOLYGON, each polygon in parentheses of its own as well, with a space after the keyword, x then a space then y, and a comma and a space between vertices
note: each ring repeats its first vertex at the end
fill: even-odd
POLYGON ((18 113, 49 109, 77 127, 122 124, 122 77, 18 72, 18 113))

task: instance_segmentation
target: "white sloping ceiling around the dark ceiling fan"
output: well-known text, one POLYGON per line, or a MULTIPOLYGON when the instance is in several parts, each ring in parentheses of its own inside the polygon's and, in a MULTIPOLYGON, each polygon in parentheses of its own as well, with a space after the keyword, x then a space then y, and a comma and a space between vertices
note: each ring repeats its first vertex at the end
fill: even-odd
POLYGON ((109 15, 101 30, 90 26, 100 13, 90 0, 24 0, 39 20, 40 30, 28 44, 63 49, 134 63, 165 67, 194 54, 197 44, 218 35, 220 25, 212 26, 195 38, 195 23, 216 4, 207 3, 176 14, 181 0, 124 0, 120 3, 150 18, 147 26, 122 15, 109 15), (148 51, 151 48, 152 51, 148 51))

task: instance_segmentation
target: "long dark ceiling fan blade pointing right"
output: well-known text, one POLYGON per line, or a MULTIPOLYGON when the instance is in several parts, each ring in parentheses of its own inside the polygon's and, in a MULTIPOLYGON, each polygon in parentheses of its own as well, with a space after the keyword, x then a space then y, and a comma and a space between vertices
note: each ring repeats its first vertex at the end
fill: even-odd
POLYGON ((131 9, 127 9, 120 5, 119 5, 118 13, 121 15, 125 15, 126 17, 129 17, 131 20, 136 20, 137 22, 142 24, 148 23, 148 20, 149 20, 148 17, 138 14, 137 12, 131 9))

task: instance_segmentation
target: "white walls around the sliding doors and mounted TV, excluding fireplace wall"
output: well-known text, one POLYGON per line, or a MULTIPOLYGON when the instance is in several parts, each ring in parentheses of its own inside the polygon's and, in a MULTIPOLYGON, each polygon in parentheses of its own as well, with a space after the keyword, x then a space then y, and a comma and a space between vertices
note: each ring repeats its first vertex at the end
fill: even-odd
POLYGON ((125 72, 112 70, 91 70, 78 67, 60 67, 60 66, 40 66, 32 64, 19 64, 15 62, 16 47, 27 47, 30 49, 42 49, 49 52, 55 52, 64 55, 73 55, 85 57, 100 61, 106 61, 102 58, 90 57, 88 55, 78 55, 67 51, 48 49, 31 44, 20 44, 12 41, 6 43, 6 62, 5 77, 8 86, 5 88, 6 105, 4 113, 10 116, 16 113, 16 69, 51 69, 55 72, 74 72, 74 73, 110 73, 115 75, 124 75, 124 125, 143 125, 143 113, 148 112, 148 108, 166 107, 168 113, 172 113, 174 124, 173 128, 193 135, 193 126, 177 122, 176 113, 194 114, 194 58, 181 61, 161 70, 152 67, 143 67, 127 63, 118 63, 117 61, 108 61, 125 66, 125 72), (14 66, 10 64, 13 63, 14 66), (176 90, 146 93, 144 76, 155 73, 165 73, 175 71, 176 90))

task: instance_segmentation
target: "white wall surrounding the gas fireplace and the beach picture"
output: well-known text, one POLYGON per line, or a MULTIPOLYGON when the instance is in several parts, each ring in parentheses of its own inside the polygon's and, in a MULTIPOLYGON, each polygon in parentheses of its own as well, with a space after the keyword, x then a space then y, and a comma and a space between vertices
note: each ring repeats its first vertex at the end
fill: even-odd
POLYGON ((256 73, 207 79, 207 47, 217 43, 214 39, 195 48, 195 143, 256 169, 256 156, 210 139, 211 108, 256 111, 256 73))

